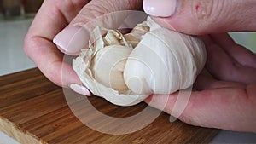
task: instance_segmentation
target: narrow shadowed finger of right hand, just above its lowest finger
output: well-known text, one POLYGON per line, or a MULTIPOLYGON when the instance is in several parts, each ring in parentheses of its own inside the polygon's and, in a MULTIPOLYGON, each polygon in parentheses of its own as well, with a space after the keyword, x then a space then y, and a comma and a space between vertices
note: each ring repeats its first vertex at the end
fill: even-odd
POLYGON ((193 86, 197 90, 220 88, 246 89, 245 84, 217 80, 216 78, 213 78, 212 75, 209 72, 207 72, 207 70, 203 70, 198 75, 193 86))

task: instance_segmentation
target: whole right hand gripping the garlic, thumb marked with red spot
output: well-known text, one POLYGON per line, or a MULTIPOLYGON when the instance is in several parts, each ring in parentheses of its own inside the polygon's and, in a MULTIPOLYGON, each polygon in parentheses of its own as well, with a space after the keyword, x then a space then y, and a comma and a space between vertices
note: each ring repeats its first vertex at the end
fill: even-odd
MULTIPOLYGON (((144 0, 144 10, 160 25, 201 36, 207 64, 198 76, 189 103, 179 117, 185 123, 224 130, 256 132, 256 55, 225 32, 256 31, 256 2, 222 0, 144 0)), ((166 95, 146 99, 160 108, 166 95), (151 101, 152 100, 152 101, 151 101), (153 101, 154 100, 154 101, 153 101)), ((177 93, 164 111, 172 113, 177 93)))

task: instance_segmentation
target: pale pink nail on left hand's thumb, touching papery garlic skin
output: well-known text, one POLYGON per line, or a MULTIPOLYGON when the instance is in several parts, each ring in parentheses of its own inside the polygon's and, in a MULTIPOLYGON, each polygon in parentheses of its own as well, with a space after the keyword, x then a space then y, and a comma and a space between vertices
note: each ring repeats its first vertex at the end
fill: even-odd
POLYGON ((53 42, 63 53, 78 55, 88 46, 89 32, 81 26, 67 27, 55 36, 53 42))

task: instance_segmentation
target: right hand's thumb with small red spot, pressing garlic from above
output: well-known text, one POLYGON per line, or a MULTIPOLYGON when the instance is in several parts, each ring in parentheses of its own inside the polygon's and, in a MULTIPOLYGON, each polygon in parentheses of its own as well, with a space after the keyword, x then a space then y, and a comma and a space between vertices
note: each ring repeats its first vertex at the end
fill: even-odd
POLYGON ((193 35, 255 31, 255 0, 144 0, 146 13, 160 25, 193 35))

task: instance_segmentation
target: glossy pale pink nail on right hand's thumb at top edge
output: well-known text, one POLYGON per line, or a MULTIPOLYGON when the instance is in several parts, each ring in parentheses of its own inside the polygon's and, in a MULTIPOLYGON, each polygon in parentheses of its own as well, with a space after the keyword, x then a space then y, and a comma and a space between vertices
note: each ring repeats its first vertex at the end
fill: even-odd
POLYGON ((169 17, 175 13, 177 0, 144 0, 144 11, 152 16, 169 17))

